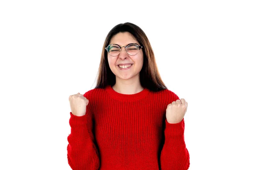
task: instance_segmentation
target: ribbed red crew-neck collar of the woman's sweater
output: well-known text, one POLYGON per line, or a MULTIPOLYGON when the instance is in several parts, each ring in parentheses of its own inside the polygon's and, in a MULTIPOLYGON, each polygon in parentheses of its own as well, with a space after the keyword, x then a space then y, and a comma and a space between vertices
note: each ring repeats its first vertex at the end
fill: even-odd
POLYGON ((143 91, 140 91, 139 93, 136 93, 136 94, 121 94, 114 91, 111 85, 106 86, 106 91, 112 98, 122 100, 122 101, 142 99, 145 96, 147 96, 149 93, 149 90, 147 88, 144 88, 143 91))

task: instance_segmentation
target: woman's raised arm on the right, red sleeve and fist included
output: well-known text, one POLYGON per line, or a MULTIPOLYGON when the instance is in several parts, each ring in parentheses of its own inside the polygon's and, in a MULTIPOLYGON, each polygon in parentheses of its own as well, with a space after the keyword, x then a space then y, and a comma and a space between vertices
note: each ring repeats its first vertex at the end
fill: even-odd
POLYGON ((166 109, 165 142, 160 155, 161 170, 188 170, 189 152, 184 141, 184 115, 187 102, 172 94, 173 102, 166 109))

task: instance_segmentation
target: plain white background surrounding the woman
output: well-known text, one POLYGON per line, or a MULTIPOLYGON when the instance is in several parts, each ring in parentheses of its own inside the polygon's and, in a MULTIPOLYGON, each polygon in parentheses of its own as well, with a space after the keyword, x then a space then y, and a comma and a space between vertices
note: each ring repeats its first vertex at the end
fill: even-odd
POLYGON ((0 2, 0 169, 70 170, 72 94, 93 89, 119 23, 143 29, 186 99, 189 170, 255 170, 253 0, 0 2))

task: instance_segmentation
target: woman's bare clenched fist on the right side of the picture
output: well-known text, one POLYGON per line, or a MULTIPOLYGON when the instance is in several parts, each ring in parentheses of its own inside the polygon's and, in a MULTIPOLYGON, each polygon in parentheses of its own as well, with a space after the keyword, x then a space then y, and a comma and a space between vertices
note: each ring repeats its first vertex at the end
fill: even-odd
POLYGON ((188 107, 188 102, 185 99, 178 99, 173 101, 166 108, 166 119, 168 123, 179 123, 182 121, 186 110, 188 107))

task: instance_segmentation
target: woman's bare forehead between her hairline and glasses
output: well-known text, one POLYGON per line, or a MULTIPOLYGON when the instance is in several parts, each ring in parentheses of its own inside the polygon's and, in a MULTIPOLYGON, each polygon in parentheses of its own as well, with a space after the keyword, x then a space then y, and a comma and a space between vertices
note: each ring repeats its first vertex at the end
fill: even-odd
POLYGON ((110 44, 118 44, 120 46, 124 46, 130 43, 139 44, 139 42, 129 32, 119 32, 114 35, 110 40, 110 44))

